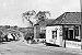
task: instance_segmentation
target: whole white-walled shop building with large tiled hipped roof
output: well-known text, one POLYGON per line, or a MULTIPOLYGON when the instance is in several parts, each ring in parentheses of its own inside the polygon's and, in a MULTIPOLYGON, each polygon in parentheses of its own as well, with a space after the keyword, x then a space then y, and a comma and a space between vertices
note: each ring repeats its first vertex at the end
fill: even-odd
POLYGON ((81 12, 66 12, 46 28, 46 42, 81 48, 81 12))

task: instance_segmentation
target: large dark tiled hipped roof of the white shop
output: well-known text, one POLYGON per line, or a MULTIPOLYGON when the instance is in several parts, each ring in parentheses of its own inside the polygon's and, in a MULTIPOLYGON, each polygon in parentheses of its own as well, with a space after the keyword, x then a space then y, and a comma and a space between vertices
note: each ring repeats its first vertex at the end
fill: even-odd
POLYGON ((48 25, 55 24, 81 24, 81 12, 65 12, 48 25))

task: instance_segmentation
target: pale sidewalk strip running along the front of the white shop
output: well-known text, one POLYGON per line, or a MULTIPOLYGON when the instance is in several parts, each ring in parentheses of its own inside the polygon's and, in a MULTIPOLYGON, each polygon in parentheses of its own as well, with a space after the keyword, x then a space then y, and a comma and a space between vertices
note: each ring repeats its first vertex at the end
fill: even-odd
POLYGON ((57 46, 46 46, 45 44, 26 44, 28 46, 32 47, 40 47, 40 48, 47 48, 50 51, 60 51, 60 52, 65 52, 65 53, 72 53, 72 54, 79 54, 82 55, 82 50, 78 50, 78 48, 63 48, 63 47, 57 47, 57 46))

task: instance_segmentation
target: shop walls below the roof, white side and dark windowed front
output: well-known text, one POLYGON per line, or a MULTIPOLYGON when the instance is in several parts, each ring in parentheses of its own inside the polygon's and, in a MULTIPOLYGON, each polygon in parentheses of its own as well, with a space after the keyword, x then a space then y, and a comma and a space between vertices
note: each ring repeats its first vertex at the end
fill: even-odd
POLYGON ((46 42, 68 48, 81 48, 80 25, 47 26, 46 42))

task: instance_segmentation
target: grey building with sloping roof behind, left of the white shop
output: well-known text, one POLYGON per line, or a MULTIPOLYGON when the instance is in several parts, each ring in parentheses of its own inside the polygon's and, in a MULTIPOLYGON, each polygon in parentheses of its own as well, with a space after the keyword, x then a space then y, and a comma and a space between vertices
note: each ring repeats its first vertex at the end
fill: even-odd
POLYGON ((34 25, 34 37, 46 38, 46 25, 51 23, 54 19, 45 19, 34 25))

